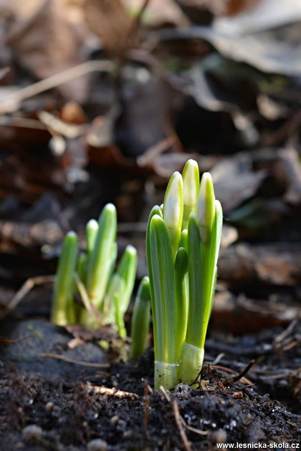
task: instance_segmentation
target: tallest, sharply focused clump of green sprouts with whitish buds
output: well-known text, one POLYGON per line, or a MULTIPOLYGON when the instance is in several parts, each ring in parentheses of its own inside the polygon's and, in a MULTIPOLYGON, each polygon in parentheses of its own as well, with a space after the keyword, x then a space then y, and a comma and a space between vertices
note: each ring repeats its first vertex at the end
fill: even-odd
POLYGON ((169 180, 153 207, 146 258, 154 325, 155 388, 197 379, 212 311, 221 243, 222 209, 209 173, 196 161, 169 180))

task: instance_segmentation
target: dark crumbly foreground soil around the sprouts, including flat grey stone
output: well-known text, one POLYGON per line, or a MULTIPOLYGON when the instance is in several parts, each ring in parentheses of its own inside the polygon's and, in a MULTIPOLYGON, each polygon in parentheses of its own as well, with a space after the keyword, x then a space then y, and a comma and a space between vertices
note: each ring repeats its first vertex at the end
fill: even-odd
MULTIPOLYGON (((215 333, 205 359, 219 354, 219 344, 224 354, 204 365, 200 387, 180 384, 164 393, 152 389, 152 352, 136 365, 115 358, 110 368, 93 368, 91 362, 107 361, 99 345, 86 341, 70 350, 73 337, 65 329, 29 323, 5 322, 5 336, 14 342, 6 341, 0 356, 1 449, 201 450, 216 443, 300 442, 301 349, 277 350, 273 343, 283 328, 236 339, 215 333), (235 381, 252 358, 254 366, 235 381), (25 428, 32 424, 42 428, 34 437, 25 428), (97 438, 104 447, 91 442, 97 438)), ((284 335, 296 341, 300 323, 294 326, 284 335)))

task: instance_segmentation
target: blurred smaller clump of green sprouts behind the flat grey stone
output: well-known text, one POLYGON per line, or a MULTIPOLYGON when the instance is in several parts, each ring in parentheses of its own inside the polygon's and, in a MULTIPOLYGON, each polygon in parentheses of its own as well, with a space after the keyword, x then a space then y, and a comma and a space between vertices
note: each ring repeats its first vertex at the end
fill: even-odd
POLYGON ((54 324, 111 324, 119 335, 126 336, 123 318, 135 284, 137 253, 128 245, 115 270, 116 235, 117 214, 111 203, 103 208, 98 221, 88 222, 86 252, 79 253, 75 232, 66 234, 53 291, 54 324), (75 303, 76 295, 84 305, 75 303))

